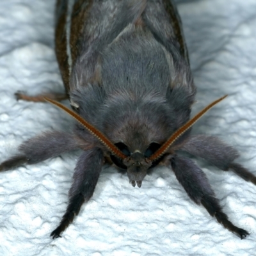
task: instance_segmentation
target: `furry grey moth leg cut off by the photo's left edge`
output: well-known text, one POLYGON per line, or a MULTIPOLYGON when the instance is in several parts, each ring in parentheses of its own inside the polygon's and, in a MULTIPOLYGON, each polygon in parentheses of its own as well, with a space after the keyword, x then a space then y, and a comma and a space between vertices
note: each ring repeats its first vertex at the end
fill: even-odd
POLYGON ((40 136, 24 141, 19 147, 19 154, 0 164, 0 172, 23 164, 35 164, 48 158, 59 156, 63 152, 77 148, 72 135, 66 132, 45 132, 40 136))

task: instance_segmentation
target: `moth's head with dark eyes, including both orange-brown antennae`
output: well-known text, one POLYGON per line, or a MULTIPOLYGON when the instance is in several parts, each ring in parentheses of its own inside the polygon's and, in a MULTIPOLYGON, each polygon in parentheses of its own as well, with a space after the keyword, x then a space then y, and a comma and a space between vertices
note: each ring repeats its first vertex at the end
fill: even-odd
POLYGON ((56 102, 51 99, 45 99, 52 104, 58 106, 59 108, 66 111, 69 115, 75 118, 80 124, 82 124, 89 132, 93 134, 96 138, 98 138, 102 144, 108 148, 111 159, 113 163, 116 164, 119 168, 127 170, 127 174, 132 186, 141 187, 141 182, 147 175, 148 169, 156 166, 159 161, 161 161, 161 157, 164 156, 168 148, 172 147, 173 143, 184 134, 184 132, 188 131, 189 128, 195 122, 204 115, 209 109, 211 109, 214 105, 216 105, 221 100, 225 99, 227 95, 221 97, 218 100, 215 100, 207 107, 202 109, 197 115, 195 115, 191 120, 189 120, 186 124, 182 125, 179 129, 177 129, 173 134, 166 140, 163 145, 159 145, 157 143, 152 142, 148 145, 147 150, 145 152, 141 152, 139 149, 134 150, 133 152, 129 151, 129 148, 122 142, 113 144, 102 132, 93 127, 93 125, 89 124, 86 120, 84 120, 81 116, 79 116, 74 111, 68 109, 63 106, 59 102, 56 102))

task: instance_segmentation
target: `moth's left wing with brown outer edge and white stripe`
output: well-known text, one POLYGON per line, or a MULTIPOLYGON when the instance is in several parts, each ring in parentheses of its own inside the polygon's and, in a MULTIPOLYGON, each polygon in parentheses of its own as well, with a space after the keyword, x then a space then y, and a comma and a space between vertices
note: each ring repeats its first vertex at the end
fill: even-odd
POLYGON ((146 3, 145 0, 57 1, 56 56, 67 93, 100 80, 99 52, 140 17, 146 3), (83 77, 72 76, 74 68, 83 77))

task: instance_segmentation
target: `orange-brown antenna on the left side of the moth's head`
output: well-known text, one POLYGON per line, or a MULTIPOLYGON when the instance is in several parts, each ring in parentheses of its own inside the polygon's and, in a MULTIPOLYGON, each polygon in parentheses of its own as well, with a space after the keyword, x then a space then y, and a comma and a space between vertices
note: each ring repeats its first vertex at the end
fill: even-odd
POLYGON ((48 102, 51 102, 51 104, 58 106, 59 108, 63 109, 65 112, 67 112, 70 116, 75 118, 80 124, 82 124, 89 132, 93 134, 93 136, 97 137, 108 149, 115 154, 115 156, 119 157, 120 159, 125 159, 127 156, 123 154, 119 148, 117 148, 102 132, 100 132, 98 129, 93 127, 93 125, 89 124, 86 120, 84 120, 81 116, 79 116, 76 112, 72 111, 71 109, 68 109, 64 105, 60 104, 60 102, 57 102, 55 100, 44 98, 48 102))

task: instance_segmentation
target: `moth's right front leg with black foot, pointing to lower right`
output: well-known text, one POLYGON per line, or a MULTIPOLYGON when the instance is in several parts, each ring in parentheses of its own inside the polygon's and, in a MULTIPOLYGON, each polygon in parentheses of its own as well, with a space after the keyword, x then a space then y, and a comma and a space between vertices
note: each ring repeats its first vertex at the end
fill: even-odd
POLYGON ((205 173, 193 161, 180 156, 173 156, 170 161, 177 180, 182 184, 191 200, 198 205, 204 205, 211 216, 214 216, 219 223, 241 239, 249 234, 228 220, 228 216, 222 211, 220 202, 215 197, 205 173))

